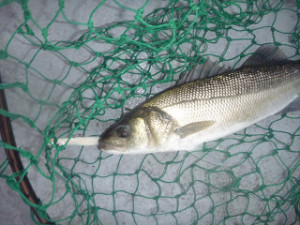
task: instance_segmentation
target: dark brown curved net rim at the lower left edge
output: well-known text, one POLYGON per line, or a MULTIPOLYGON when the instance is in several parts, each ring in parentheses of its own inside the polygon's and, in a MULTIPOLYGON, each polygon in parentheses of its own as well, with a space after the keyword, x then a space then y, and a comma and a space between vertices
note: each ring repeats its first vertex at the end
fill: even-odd
MULTIPOLYGON (((0 74, 0 84, 2 84, 1 74, 0 74)), ((3 89, 0 89, 0 108, 8 111, 3 89)), ((2 141, 6 142, 11 146, 16 146, 10 119, 0 114, 0 124, 1 124, 0 133, 1 133, 2 141)), ((5 154, 13 173, 19 173, 24 170, 20 155, 17 151, 5 148, 5 154)), ((41 201, 36 196, 35 191, 33 190, 27 175, 25 175, 22 180, 20 180, 20 176, 16 176, 15 179, 17 182, 19 182, 20 189, 22 193, 27 197, 27 199, 33 204, 40 205, 41 201)), ((32 212, 34 213, 34 215, 36 216, 36 218, 40 223, 54 224, 52 222, 49 222, 47 219, 43 218, 37 212, 36 208, 30 207, 30 209, 32 210, 32 212)), ((49 218, 46 212, 43 212, 43 214, 46 215, 47 218, 49 218)))

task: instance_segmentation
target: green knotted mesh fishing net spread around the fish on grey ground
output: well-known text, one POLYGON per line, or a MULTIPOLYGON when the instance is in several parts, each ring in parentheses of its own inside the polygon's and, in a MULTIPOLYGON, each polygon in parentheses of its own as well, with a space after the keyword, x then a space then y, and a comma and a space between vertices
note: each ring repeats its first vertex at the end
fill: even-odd
POLYGON ((1 180, 55 224, 299 224, 299 111, 193 152, 110 155, 50 142, 100 135, 208 57, 238 68, 273 44, 297 59, 299 7, 276 0, 0 2, 0 89, 9 108, 0 114, 12 121, 17 142, 2 140, 0 148, 17 151, 24 165, 12 173, 1 154, 1 180), (26 174, 38 204, 15 180, 26 174))

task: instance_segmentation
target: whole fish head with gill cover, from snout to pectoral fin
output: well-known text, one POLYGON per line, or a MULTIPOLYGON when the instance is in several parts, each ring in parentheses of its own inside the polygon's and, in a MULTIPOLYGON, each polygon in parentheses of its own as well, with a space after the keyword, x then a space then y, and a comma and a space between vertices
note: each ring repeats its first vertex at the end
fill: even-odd
POLYGON ((109 127, 98 148, 109 153, 153 152, 168 139, 177 123, 157 107, 140 107, 109 127))

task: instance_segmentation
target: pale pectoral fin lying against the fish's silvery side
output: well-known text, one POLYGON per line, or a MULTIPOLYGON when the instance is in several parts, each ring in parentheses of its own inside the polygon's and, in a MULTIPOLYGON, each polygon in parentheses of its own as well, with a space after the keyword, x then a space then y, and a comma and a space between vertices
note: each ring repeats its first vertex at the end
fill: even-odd
POLYGON ((175 133, 181 138, 185 138, 188 135, 197 133, 201 130, 205 130, 208 127, 211 127, 214 123, 215 121, 212 120, 190 123, 188 125, 175 129, 175 133))

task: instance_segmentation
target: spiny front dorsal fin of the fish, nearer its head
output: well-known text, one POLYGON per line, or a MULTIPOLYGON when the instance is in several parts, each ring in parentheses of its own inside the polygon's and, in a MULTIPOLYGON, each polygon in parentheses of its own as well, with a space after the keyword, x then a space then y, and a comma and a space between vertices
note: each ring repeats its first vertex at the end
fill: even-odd
POLYGON ((207 60, 204 63, 196 64, 188 73, 183 75, 177 81, 176 85, 181 85, 195 80, 213 77, 215 75, 225 73, 229 70, 229 67, 220 66, 218 65, 217 61, 213 62, 209 58, 207 58, 207 60))

